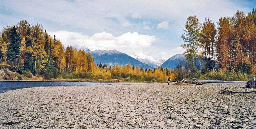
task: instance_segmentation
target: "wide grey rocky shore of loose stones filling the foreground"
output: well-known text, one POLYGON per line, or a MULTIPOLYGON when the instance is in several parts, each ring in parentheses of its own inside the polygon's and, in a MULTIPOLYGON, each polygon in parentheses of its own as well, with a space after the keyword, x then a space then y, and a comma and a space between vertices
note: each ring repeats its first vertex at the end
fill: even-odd
POLYGON ((36 87, 0 94, 0 128, 256 129, 245 84, 36 87))

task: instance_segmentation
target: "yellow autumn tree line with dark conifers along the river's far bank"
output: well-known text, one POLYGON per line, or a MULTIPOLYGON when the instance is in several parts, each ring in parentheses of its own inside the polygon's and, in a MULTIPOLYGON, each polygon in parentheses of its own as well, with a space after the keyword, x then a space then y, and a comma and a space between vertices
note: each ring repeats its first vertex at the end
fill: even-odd
POLYGON ((43 29, 23 20, 7 25, 0 36, 0 67, 21 75, 87 80, 166 81, 175 71, 163 67, 144 69, 127 64, 107 66, 95 64, 90 53, 67 46, 43 29))

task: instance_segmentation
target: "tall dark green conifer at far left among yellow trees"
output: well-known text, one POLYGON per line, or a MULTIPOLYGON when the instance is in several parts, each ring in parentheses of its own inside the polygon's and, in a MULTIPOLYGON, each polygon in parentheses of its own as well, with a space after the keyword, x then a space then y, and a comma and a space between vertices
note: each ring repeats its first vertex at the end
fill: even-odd
POLYGON ((20 55, 20 34, 15 26, 12 27, 8 34, 9 45, 6 53, 7 64, 10 64, 15 70, 18 70, 20 55))

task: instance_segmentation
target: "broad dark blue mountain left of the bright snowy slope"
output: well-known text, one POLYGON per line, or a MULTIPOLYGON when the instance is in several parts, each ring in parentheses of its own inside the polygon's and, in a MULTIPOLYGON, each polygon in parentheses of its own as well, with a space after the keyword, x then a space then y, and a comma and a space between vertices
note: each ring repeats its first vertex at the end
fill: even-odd
POLYGON ((93 56, 94 62, 97 64, 107 63, 107 65, 109 66, 113 66, 114 64, 118 64, 122 66, 126 64, 131 64, 131 65, 139 66, 140 68, 143 67, 145 69, 153 68, 117 50, 109 50, 109 51, 96 50, 96 51, 91 51, 89 53, 93 56))

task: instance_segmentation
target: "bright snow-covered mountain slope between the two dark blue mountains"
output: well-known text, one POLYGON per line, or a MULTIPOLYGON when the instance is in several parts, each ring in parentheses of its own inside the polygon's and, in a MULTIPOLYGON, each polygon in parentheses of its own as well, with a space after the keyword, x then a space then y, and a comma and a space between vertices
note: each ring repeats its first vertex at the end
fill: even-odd
POLYGON ((162 63, 156 61, 152 56, 145 55, 144 53, 134 53, 134 52, 127 52, 127 55, 135 58, 136 60, 148 64, 149 66, 155 68, 160 66, 162 63))

